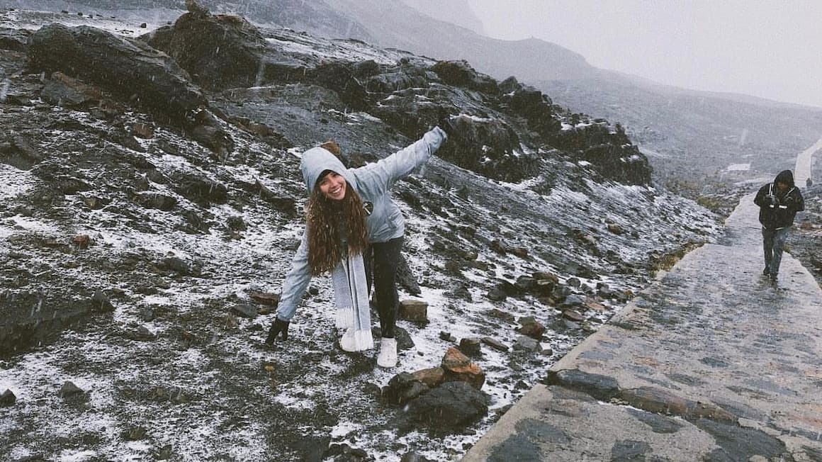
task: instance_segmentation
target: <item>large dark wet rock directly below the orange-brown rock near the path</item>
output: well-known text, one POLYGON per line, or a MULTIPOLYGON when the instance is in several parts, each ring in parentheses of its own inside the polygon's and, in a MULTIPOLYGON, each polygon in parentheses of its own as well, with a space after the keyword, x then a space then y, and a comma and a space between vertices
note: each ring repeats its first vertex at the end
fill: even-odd
POLYGON ((464 427, 488 412, 488 396, 462 381, 442 384, 406 405, 409 419, 437 429, 464 427))

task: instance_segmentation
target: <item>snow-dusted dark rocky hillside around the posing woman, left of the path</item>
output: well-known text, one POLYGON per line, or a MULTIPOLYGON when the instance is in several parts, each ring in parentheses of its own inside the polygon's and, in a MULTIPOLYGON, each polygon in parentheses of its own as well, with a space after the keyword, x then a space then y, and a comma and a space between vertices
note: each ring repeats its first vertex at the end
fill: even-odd
POLYGON ((515 79, 191 10, 140 38, 0 10, 2 460, 455 460, 719 232, 515 79), (456 136, 395 187, 399 367, 339 349, 326 278, 266 348, 301 153, 372 162, 441 110, 456 136))

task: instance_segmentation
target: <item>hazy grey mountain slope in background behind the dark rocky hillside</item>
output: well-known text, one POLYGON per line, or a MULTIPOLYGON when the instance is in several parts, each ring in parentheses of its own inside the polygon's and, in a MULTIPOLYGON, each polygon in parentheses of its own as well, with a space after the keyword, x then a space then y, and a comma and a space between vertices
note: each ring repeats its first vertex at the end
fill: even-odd
MULTIPOLYGON (((822 136, 822 109, 746 95, 677 89, 598 69, 579 53, 540 39, 491 39, 450 24, 446 21, 453 16, 446 10, 432 13, 436 7, 428 0, 201 3, 213 12, 237 12, 260 24, 282 25, 330 38, 360 39, 436 59, 465 59, 479 72, 497 79, 516 76, 571 111, 621 122, 649 155, 658 178, 669 182, 669 186, 690 183, 686 190, 690 189, 692 197, 708 182, 727 182, 724 169, 728 164, 751 164, 751 169, 737 173, 734 181, 769 176, 790 165, 792 156, 822 136), (439 16, 439 20, 432 16, 439 16)), ((453 7, 463 3, 450 4, 453 7)), ((145 8, 155 15, 158 9, 183 7, 182 1, 174 0, 0 0, 0 6, 4 4, 50 5, 52 9, 72 4, 116 7, 118 11, 145 8)), ((550 21, 546 27, 550 27, 550 21)))

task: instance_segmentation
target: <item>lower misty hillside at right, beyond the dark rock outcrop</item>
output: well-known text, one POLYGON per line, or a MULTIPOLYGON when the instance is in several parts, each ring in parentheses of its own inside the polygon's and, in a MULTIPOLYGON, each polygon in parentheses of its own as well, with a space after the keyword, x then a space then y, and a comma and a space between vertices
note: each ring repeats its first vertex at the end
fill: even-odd
POLYGON ((822 109, 651 85, 627 76, 537 81, 556 101, 621 122, 667 187, 692 197, 793 169, 822 137, 822 109), (732 165, 747 165, 732 171, 732 165), (698 175, 694 173, 698 172, 698 175))

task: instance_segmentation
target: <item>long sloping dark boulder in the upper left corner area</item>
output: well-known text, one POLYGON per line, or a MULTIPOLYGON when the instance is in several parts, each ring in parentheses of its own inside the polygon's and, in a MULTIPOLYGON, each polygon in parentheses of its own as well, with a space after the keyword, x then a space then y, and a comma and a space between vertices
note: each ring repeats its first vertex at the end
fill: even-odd
POLYGON ((105 30, 46 25, 31 35, 28 57, 32 72, 80 77, 166 122, 182 125, 207 106, 205 95, 168 55, 105 30))

